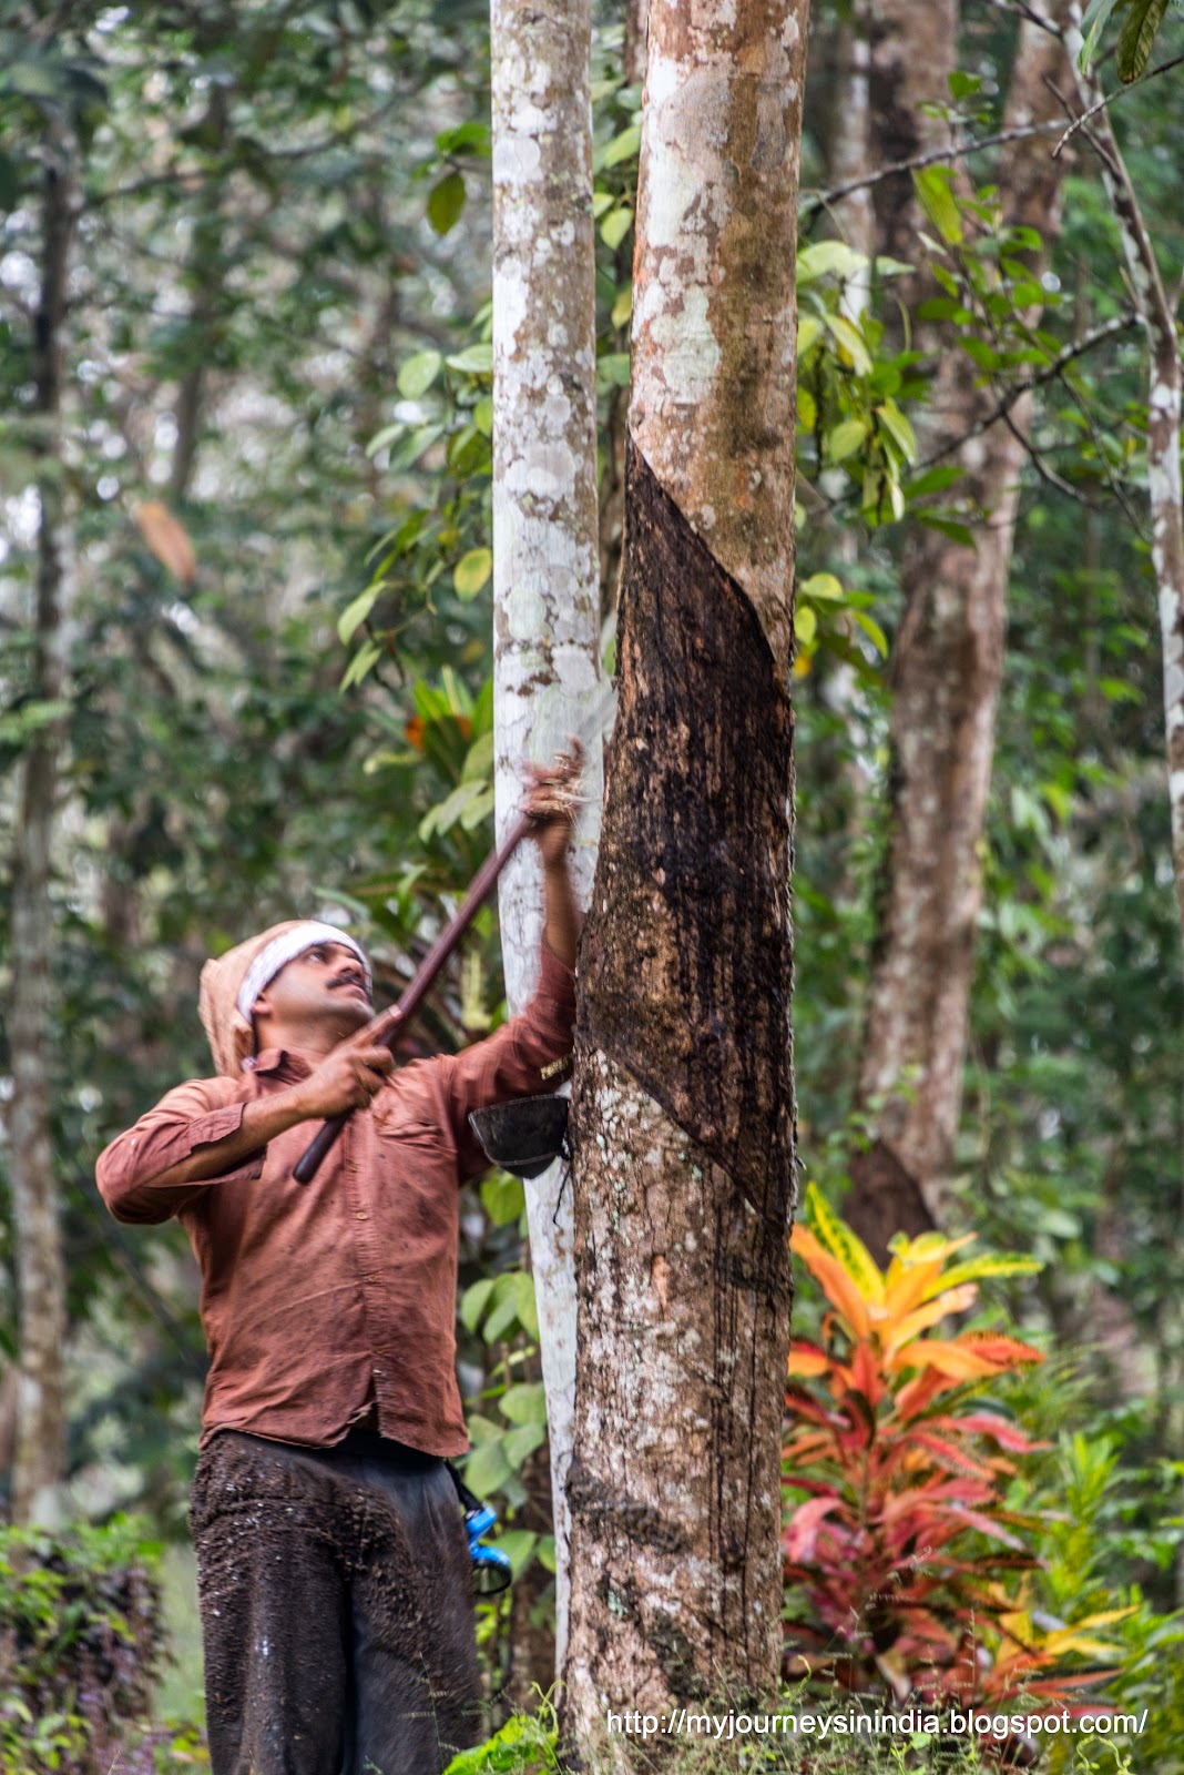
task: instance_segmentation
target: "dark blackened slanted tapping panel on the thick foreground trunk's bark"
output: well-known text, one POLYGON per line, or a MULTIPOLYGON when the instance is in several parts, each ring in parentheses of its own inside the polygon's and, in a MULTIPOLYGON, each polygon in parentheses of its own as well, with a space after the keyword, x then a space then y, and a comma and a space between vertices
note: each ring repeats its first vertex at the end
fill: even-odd
POLYGON ((581 1038, 783 1225, 792 714, 753 609, 629 444, 620 710, 581 1038), (693 724, 688 721, 693 712, 693 724))

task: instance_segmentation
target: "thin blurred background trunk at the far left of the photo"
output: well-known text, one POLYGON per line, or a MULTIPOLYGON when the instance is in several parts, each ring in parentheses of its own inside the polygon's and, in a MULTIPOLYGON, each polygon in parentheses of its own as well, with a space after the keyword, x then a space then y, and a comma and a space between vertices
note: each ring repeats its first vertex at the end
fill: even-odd
POLYGON ((64 515, 60 419, 62 325, 74 233, 76 183, 71 146, 50 140, 43 195, 43 264, 34 316, 34 364, 41 419, 37 497, 37 584, 32 708, 43 715, 21 761, 12 859, 12 1102, 9 1177, 19 1292, 19 1369, 12 1521, 53 1526, 66 1471, 64 1347, 66 1267, 58 1184, 50 1134, 50 960, 51 845, 60 756, 66 746, 66 632, 69 563, 64 515))

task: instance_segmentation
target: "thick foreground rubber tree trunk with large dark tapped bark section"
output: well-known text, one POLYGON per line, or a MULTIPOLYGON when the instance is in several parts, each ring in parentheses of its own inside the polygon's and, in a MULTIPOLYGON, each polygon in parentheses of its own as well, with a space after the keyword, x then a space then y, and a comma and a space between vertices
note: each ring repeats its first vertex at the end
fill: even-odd
POLYGON ((606 1709, 767 1697, 780 1668, 806 21, 806 0, 649 14, 620 705, 573 1099, 562 1718, 615 1768, 656 1741, 604 1738, 606 1709))

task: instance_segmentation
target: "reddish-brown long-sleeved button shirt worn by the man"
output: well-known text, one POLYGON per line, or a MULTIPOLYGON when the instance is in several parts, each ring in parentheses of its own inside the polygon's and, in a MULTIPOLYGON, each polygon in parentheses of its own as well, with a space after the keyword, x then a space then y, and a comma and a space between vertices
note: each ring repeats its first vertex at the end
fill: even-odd
POLYGON ((202 1443, 236 1429, 330 1447, 376 1406, 383 1436, 427 1454, 468 1448, 456 1384, 457 1184, 489 1166, 468 1113, 553 1090, 573 1019, 571 971, 542 944, 526 1010, 461 1054, 385 1079, 308 1186, 292 1177, 308 1122, 222 1177, 152 1182, 234 1134, 245 1104, 305 1076, 284 1051, 261 1054, 241 1079, 177 1086, 112 1141, 97 1182, 115 1219, 175 1214, 202 1271, 202 1443))

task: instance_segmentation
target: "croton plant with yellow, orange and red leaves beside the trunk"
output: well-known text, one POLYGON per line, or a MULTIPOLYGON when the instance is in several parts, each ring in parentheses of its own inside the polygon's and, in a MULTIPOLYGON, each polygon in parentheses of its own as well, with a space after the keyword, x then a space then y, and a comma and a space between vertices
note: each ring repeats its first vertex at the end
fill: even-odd
MULTIPOLYGON (((1030 1605, 1040 1518, 1007 1505, 1035 1443, 991 1397, 1044 1358, 989 1329, 954 1329, 985 1276, 1039 1269, 1028 1257, 961 1257, 973 1235, 893 1241, 886 1271, 806 1191, 792 1250, 828 1308, 821 1344, 789 1358, 783 1448, 787 1674, 897 1704, 1024 1711, 1081 1706, 1117 1647, 1030 1605), (1081 1668, 1090 1660, 1092 1668, 1081 1668)), ((1097 1702, 1090 1702, 1097 1713, 1097 1702)))

